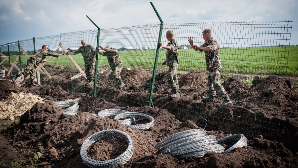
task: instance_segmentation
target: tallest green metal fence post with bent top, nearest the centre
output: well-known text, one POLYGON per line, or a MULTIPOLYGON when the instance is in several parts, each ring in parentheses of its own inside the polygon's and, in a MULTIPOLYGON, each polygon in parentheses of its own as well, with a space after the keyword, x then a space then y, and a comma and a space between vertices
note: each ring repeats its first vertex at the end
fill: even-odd
POLYGON ((158 54, 159 54, 159 48, 160 48, 160 41, 162 39, 162 28, 164 26, 164 22, 162 21, 162 18, 159 16, 159 14, 158 14, 157 10, 155 9, 153 3, 150 2, 150 4, 153 7, 153 9, 154 9, 159 21, 160 21, 160 29, 159 29, 159 38, 158 38, 156 54, 155 54, 155 61, 154 61, 154 68, 153 68, 153 75, 152 75, 151 90, 150 90, 150 95, 149 95, 149 102, 148 102, 149 104, 148 104, 148 106, 151 106, 151 102, 152 102, 152 95, 153 95, 154 82, 155 82, 155 74, 156 74, 158 54))

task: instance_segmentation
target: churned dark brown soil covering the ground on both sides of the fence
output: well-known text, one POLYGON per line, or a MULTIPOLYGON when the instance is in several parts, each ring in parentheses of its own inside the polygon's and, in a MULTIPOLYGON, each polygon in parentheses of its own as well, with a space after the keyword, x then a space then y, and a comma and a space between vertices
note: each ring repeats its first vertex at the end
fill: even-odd
MULTIPOLYGON (((276 76, 256 78, 252 86, 246 85, 239 78, 227 78, 222 85, 229 92, 235 105, 220 107, 218 104, 222 102, 221 99, 216 99, 215 103, 201 102, 200 96, 207 94, 205 73, 189 72, 180 75, 181 99, 169 99, 167 94, 170 93, 170 88, 164 78, 167 73, 160 72, 156 76, 153 94, 155 98, 153 104, 158 105, 152 108, 143 106, 148 102, 143 96, 148 97, 150 92, 148 89, 150 74, 146 74, 142 69, 124 68, 122 70, 121 75, 126 84, 123 91, 114 87, 115 83, 110 72, 106 71, 107 73, 98 75, 97 88, 100 92, 97 92, 97 95, 113 102, 109 103, 105 99, 90 96, 92 89, 85 85, 87 82, 85 79, 69 80, 77 73, 73 68, 62 69, 51 66, 45 68, 53 74, 52 79, 45 82, 54 85, 30 88, 25 84, 17 87, 8 80, 0 80, 2 99, 6 99, 10 92, 26 91, 38 94, 47 100, 44 104, 36 103, 17 122, 1 120, 0 163, 2 167, 20 161, 22 158, 24 158, 22 167, 26 167, 31 163, 29 159, 34 160, 32 156, 27 155, 29 152, 43 154, 36 164, 39 167, 87 167, 80 157, 80 147, 90 135, 105 129, 118 129, 132 138, 134 154, 126 164, 119 164, 118 167, 298 167, 298 96, 294 91, 295 88, 291 86, 296 80, 294 78, 291 80, 276 76), (55 73, 59 78, 55 77, 55 73), (84 91, 90 89, 90 92, 69 94, 67 88, 71 83, 82 83, 84 91), (265 84, 267 87, 263 87, 265 84), (110 94, 107 95, 104 91, 110 94), (76 98, 81 98, 78 111, 98 113, 100 110, 110 108, 134 110, 154 117, 154 126, 149 130, 136 130, 119 124, 117 120, 100 119, 89 113, 78 113, 65 118, 62 114, 64 110, 52 103, 76 98), (122 104, 117 103, 120 99, 125 100, 125 103, 124 101, 122 104), (250 102, 259 102, 262 105, 250 102), (189 112, 186 109, 183 111, 183 108, 177 104, 183 104, 188 109, 196 109, 195 107, 200 106, 208 109, 206 114, 218 112, 218 115, 224 115, 220 118, 235 120, 231 126, 236 124, 238 119, 235 118, 237 110, 247 111, 249 112, 247 114, 254 114, 254 117, 262 114, 262 117, 268 116, 272 120, 279 120, 280 126, 278 131, 274 132, 274 136, 268 136, 268 133, 256 135, 256 132, 247 132, 248 146, 228 153, 207 153, 202 158, 184 159, 170 155, 157 155, 154 147, 159 140, 177 132, 199 128, 195 118, 193 119, 196 123, 190 121, 191 117, 182 118, 177 116, 177 113, 174 116, 168 112, 168 110, 171 112, 180 110, 180 114, 189 112)), ((243 114, 239 114, 239 117, 242 116, 243 114)), ((208 123, 207 134, 215 135, 216 139, 231 135, 229 132, 212 131, 212 128, 220 129, 226 121, 228 120, 219 121, 215 118, 214 122, 208 123)), ((226 126, 227 123, 224 124, 226 126)), ((89 147, 87 155, 94 159, 110 160, 125 151, 126 145, 121 138, 106 137, 89 147)), ((226 147, 229 145, 226 144, 226 147)))

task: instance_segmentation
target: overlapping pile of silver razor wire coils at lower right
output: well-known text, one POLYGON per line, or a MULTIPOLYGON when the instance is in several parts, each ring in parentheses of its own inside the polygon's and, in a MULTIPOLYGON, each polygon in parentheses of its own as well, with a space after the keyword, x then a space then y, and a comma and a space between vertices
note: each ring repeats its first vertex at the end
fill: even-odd
POLYGON ((170 135, 160 140, 155 148, 157 154, 168 154, 176 158, 202 157, 207 152, 229 152, 237 147, 246 146, 246 137, 235 134, 215 140, 215 136, 207 135, 204 129, 190 129, 170 135), (225 150, 222 144, 238 140, 232 147, 225 150))

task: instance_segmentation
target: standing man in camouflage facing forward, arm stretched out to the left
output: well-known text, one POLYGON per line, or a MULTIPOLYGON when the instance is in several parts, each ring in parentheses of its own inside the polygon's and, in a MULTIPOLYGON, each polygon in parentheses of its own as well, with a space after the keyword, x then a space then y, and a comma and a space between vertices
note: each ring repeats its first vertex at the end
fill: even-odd
POLYGON ((66 55, 68 54, 79 54, 81 53, 84 62, 85 62, 85 74, 87 77, 87 80, 89 81, 87 84, 93 84, 94 82, 94 72, 95 72, 95 56, 96 56, 96 49, 90 45, 87 44, 85 40, 81 41, 81 46, 77 51, 73 52, 66 52, 66 55))

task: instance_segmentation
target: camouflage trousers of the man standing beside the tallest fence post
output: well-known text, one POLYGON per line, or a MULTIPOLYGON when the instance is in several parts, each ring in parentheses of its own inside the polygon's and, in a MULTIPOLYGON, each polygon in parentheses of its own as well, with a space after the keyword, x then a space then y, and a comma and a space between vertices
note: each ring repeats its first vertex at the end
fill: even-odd
POLYGON ((179 89, 179 84, 178 84, 178 67, 179 64, 176 60, 168 60, 167 65, 169 66, 168 70, 168 84, 172 89, 179 89))

